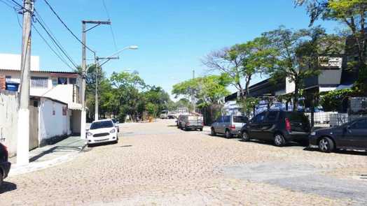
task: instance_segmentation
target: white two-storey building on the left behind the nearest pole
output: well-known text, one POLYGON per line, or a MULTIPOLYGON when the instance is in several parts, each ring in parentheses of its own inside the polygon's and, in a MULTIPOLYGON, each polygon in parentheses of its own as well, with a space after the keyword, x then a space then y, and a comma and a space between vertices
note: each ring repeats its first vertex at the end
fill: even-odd
MULTIPOLYGON (((20 83, 20 55, 0 54, 0 76, 5 77, 8 90, 11 85, 20 83)), ((29 149, 45 145, 53 138, 80 133, 78 79, 76 72, 41 71, 39 57, 31 58, 29 149)))

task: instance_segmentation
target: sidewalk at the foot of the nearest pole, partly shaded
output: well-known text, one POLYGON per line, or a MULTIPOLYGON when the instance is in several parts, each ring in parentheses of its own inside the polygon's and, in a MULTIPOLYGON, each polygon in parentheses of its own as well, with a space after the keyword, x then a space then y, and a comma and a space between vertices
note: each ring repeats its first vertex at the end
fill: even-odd
POLYGON ((71 136, 55 145, 39 147, 29 152, 28 165, 16 165, 16 156, 9 159, 12 163, 9 176, 42 170, 74 159, 86 146, 80 136, 71 136))

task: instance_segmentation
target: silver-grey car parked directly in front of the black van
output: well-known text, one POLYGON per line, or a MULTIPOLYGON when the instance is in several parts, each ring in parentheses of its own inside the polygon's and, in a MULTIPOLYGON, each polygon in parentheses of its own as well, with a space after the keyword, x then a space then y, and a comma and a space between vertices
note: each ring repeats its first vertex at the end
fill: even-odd
POLYGON ((249 121, 249 118, 239 115, 226 115, 219 117, 211 126, 212 135, 224 134, 226 138, 239 135, 242 126, 249 121))

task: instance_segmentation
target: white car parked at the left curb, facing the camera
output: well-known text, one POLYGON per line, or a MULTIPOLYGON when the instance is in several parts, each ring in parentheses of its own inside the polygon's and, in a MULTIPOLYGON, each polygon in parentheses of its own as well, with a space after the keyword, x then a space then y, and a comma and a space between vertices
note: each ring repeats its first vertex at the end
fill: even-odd
POLYGON ((101 142, 118 142, 118 132, 111 119, 92 122, 87 131, 88 145, 101 142))

